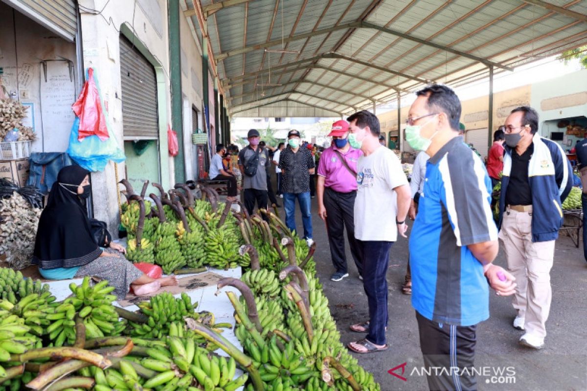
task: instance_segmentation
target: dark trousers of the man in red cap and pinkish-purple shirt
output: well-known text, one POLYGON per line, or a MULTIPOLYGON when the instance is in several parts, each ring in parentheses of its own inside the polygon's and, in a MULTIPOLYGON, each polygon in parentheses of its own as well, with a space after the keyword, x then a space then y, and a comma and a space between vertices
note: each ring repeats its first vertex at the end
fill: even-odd
POLYGON ((350 253, 355 260, 359 276, 363 275, 362 249, 355 239, 355 222, 353 220, 357 192, 339 193, 330 188, 324 189, 324 207, 326 208, 326 232, 330 244, 332 264, 339 273, 348 273, 345 253, 346 237, 349 239, 350 253))

